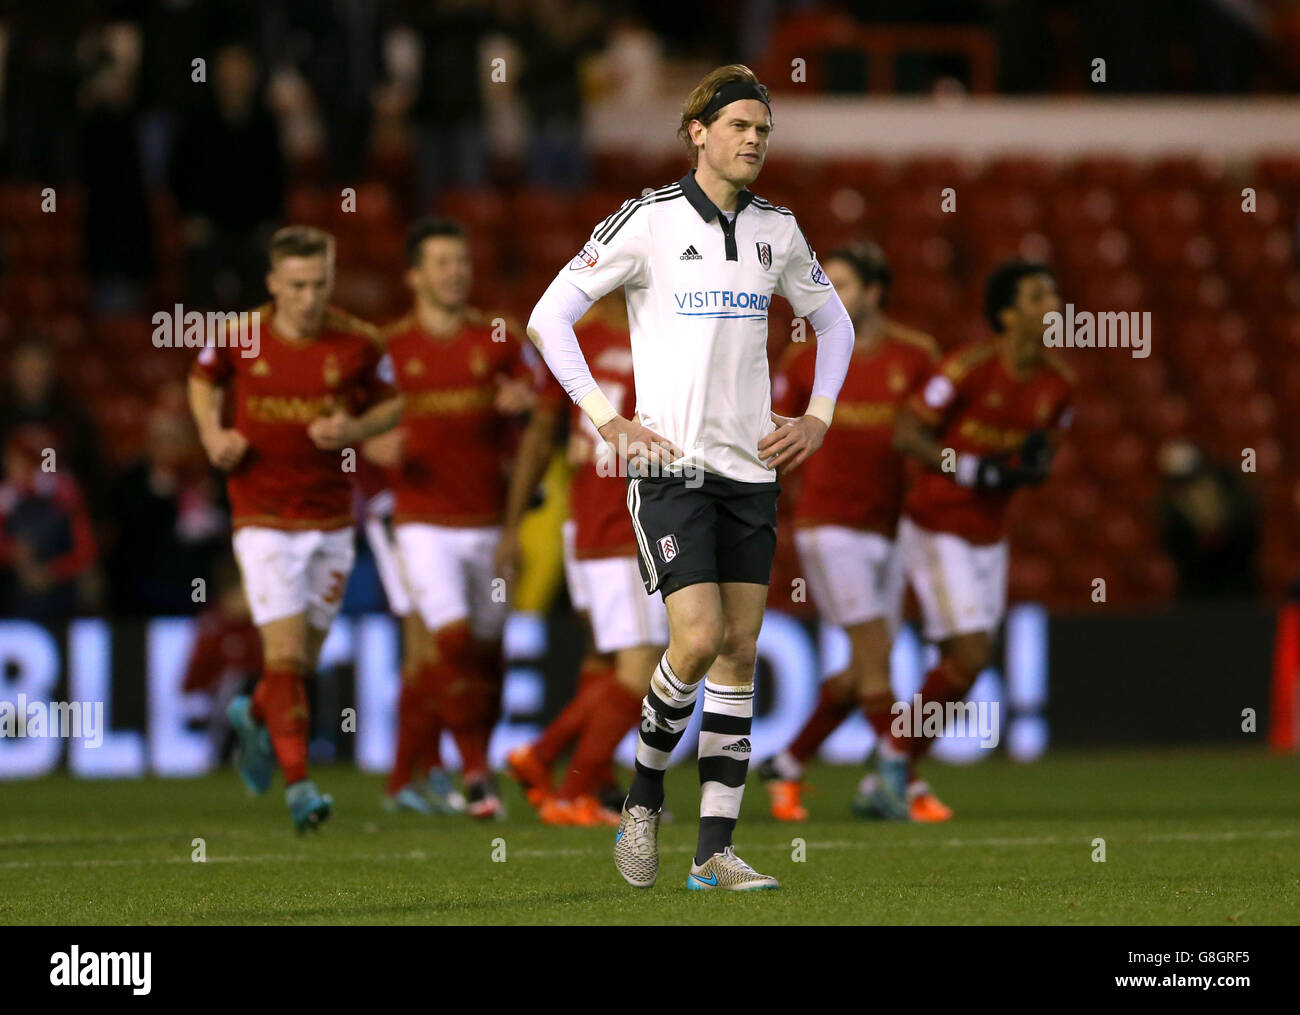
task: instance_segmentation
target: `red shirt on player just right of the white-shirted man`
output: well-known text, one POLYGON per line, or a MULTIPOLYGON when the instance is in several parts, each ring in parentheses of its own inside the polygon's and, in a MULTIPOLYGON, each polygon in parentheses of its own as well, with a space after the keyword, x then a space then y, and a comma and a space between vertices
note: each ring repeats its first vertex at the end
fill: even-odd
MULTIPOLYGON (((776 378, 776 412, 801 416, 812 394, 816 346, 797 347, 776 378)), ((939 363, 930 335, 885 322, 880 342, 854 350, 826 441, 803 465, 794 524, 846 525, 893 538, 904 496, 904 461, 893 428, 904 403, 939 363)))

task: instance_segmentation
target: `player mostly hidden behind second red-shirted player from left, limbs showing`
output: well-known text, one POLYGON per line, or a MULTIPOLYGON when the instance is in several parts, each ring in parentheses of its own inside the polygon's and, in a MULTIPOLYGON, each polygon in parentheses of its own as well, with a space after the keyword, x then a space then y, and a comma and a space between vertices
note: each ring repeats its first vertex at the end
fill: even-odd
POLYGON ((393 491, 385 470, 400 464, 404 439, 406 433, 396 426, 367 441, 356 470, 358 493, 364 504, 363 532, 374 556, 389 612, 402 625, 398 723, 400 726, 406 717, 408 732, 404 738, 398 737, 398 755, 389 773, 382 806, 386 811, 424 815, 463 814, 465 799, 451 785, 442 767, 442 721, 433 704, 420 694, 420 672, 433 663, 428 654, 430 639, 411 604, 402 554, 393 532, 393 491), (415 736, 411 736, 412 728, 415 736))

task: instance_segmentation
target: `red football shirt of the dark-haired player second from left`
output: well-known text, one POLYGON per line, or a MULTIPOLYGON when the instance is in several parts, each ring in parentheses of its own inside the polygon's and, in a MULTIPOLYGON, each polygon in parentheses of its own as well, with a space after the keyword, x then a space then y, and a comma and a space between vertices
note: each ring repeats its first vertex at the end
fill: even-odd
POLYGON ((403 461, 390 472, 395 524, 499 525, 515 420, 497 412, 498 381, 540 385, 517 329, 471 311, 452 335, 425 331, 415 315, 385 329, 407 431, 403 461))

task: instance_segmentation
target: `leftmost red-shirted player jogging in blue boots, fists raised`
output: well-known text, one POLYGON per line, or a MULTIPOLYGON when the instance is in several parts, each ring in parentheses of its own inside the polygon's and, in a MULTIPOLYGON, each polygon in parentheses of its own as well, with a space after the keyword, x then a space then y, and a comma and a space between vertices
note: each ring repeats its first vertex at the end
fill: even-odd
POLYGON ((218 342, 190 373, 190 408, 208 459, 225 469, 234 551, 261 633, 261 678, 230 703, 239 772, 255 793, 285 773, 299 832, 333 801, 307 776, 306 677, 338 613, 352 571, 356 448, 393 428, 402 399, 376 329, 328 305, 334 239, 307 226, 270 239, 257 355, 218 342), (233 424, 222 422, 225 395, 233 424))

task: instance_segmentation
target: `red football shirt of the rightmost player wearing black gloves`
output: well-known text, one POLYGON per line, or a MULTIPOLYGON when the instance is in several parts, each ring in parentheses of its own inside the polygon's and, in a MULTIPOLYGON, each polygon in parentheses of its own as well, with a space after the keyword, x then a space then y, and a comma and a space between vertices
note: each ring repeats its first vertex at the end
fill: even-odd
MULTIPOLYGON (((1050 353, 1013 374, 997 342, 976 342, 946 356, 907 402, 945 448, 975 455, 1015 451, 1030 430, 1069 424, 1071 381, 1050 353)), ((1013 491, 958 486, 952 473, 916 474, 904 513, 932 532, 971 543, 994 543, 1006 529, 1013 491)))

